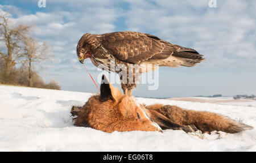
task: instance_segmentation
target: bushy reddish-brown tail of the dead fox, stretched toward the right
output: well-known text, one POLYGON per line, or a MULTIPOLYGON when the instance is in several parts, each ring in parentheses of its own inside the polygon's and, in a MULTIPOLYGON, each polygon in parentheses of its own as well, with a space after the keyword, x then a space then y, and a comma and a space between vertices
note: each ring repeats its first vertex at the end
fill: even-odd
POLYGON ((242 122, 233 121, 223 115, 207 111, 195 111, 179 108, 171 105, 150 105, 147 109, 158 111, 171 121, 180 125, 195 125, 202 132, 224 131, 236 133, 251 130, 253 127, 242 122))

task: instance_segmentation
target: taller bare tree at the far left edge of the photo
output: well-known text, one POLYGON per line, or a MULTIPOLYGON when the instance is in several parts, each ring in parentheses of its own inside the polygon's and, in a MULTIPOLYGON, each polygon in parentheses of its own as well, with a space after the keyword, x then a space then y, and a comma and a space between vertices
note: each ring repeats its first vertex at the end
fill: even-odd
POLYGON ((3 42, 0 57, 5 61, 6 80, 13 67, 20 63, 20 58, 24 56, 22 44, 30 28, 31 26, 23 24, 14 26, 7 14, 0 15, 0 44, 3 42))

